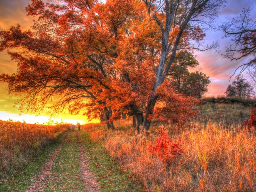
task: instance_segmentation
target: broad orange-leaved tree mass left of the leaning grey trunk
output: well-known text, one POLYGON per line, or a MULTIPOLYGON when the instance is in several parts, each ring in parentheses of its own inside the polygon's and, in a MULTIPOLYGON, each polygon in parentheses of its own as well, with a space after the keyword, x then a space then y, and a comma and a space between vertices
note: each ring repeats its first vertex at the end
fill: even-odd
MULTIPOLYGON (((1 31, 1 51, 18 62, 17 73, 3 74, 21 109, 54 112, 84 109, 90 118, 112 120, 125 112, 143 123, 143 102, 154 78, 151 47, 160 41, 144 2, 80 0, 45 4, 32 0, 32 31, 20 25, 1 31), (49 105, 50 104, 50 105, 49 105)), ((154 57, 156 53, 154 53, 154 57)))

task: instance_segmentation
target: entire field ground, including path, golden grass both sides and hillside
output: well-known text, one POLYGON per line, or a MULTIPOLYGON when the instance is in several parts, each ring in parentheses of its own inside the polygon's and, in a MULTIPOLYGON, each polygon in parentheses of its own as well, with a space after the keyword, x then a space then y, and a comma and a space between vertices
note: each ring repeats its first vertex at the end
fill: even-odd
POLYGON ((132 119, 82 131, 1 121, 0 191, 255 191, 256 132, 241 126, 251 107, 197 109, 140 134, 132 119))

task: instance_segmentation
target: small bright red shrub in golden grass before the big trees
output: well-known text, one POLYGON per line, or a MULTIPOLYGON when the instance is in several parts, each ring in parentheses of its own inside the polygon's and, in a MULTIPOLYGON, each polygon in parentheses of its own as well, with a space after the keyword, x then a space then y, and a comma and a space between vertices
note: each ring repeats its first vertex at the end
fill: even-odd
POLYGON ((163 128, 158 129, 158 132, 160 134, 156 139, 156 145, 149 146, 149 150, 151 153, 156 153, 163 163, 169 164, 183 152, 180 141, 173 143, 163 128))

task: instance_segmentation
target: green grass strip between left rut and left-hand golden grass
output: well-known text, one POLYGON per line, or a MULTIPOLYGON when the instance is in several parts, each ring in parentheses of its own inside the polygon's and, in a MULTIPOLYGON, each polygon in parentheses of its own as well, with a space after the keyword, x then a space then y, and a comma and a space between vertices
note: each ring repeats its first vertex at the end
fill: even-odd
POLYGON ((30 160, 28 165, 25 165, 19 170, 12 171, 5 178, 0 179, 0 192, 7 191, 26 191, 30 184, 30 178, 37 175, 41 170, 48 157, 55 151, 61 141, 65 138, 67 132, 59 134, 56 139, 51 141, 49 145, 41 148, 40 151, 30 160))

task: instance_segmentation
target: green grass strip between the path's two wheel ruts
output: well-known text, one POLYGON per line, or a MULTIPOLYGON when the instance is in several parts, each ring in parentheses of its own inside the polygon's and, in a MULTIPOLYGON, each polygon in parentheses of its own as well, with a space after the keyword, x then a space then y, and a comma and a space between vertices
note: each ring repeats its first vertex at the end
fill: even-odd
POLYGON ((51 180, 44 191, 84 192, 85 186, 80 173, 77 131, 71 131, 68 139, 51 168, 51 180))

